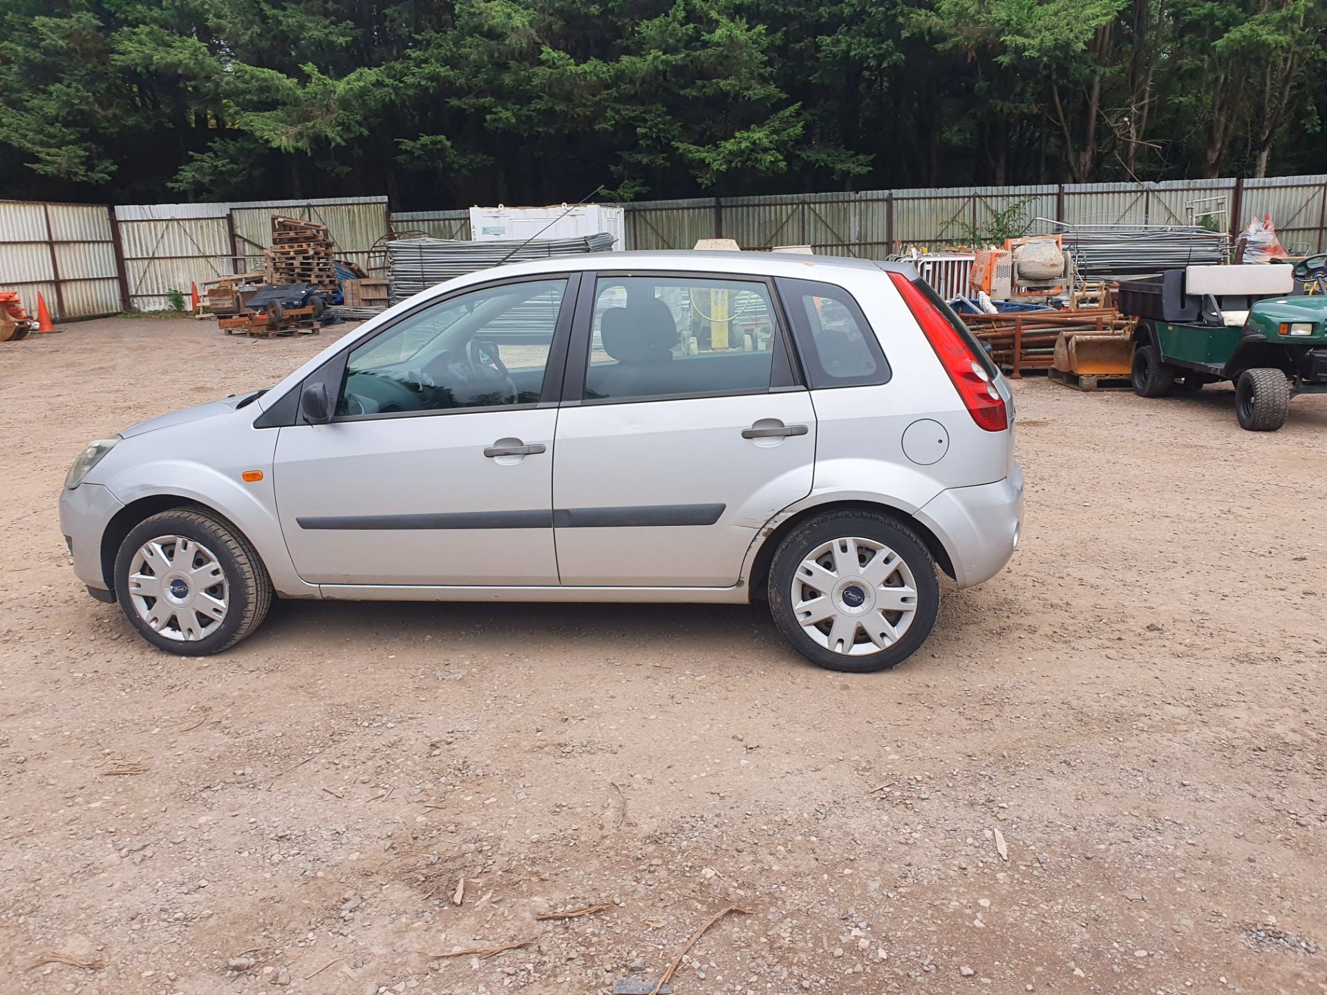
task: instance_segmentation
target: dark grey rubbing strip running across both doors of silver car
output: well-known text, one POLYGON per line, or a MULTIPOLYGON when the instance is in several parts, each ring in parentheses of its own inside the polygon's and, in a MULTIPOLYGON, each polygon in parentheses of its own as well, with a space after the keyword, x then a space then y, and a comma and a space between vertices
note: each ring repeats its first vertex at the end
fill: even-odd
POLYGON ((328 515, 296 519, 305 529, 399 531, 453 528, 658 528, 713 525, 725 504, 646 504, 556 511, 456 511, 437 515, 328 515))

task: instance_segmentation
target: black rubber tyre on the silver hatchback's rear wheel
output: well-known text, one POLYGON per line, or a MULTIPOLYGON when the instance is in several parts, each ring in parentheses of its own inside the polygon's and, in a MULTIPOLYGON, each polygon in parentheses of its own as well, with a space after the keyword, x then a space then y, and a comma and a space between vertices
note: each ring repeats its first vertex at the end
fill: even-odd
MULTIPOLYGON (((868 553, 863 553, 863 556, 868 556, 868 553)), ((886 580, 897 577, 898 574, 890 574, 886 580)), ((844 593, 851 593, 851 590, 844 593)), ((861 589, 859 588, 857 594, 860 593, 861 589)), ((824 596, 829 597, 831 594, 829 592, 824 592, 824 596)), ((774 617, 774 624, 798 653, 812 663, 828 670, 869 674, 877 670, 888 670, 901 663, 926 641, 930 630, 936 626, 936 614, 940 612, 940 581, 936 578, 936 565, 930 559, 930 553, 926 552, 926 545, 910 528, 886 515, 868 511, 839 511, 827 512, 802 523, 779 543, 774 561, 770 564, 768 598, 770 614, 774 617), (910 625, 897 642, 876 653, 855 655, 836 653, 812 638, 798 621, 795 612, 794 584, 798 584, 799 594, 809 593, 807 588, 802 586, 804 581, 798 580, 802 561, 816 547, 849 537, 880 543, 892 549, 901 557, 908 572, 912 573, 916 585, 916 608, 910 625)), ((863 616, 863 620, 869 621, 876 614, 878 613, 868 612, 863 616)), ((885 621, 900 621, 897 613, 889 613, 882 617, 885 621)), ((824 625, 832 630, 832 622, 827 621, 824 625)), ((828 638, 828 633, 821 631, 828 638)), ((868 643, 868 638, 860 626, 855 629, 852 638, 855 639, 855 645, 868 643)))

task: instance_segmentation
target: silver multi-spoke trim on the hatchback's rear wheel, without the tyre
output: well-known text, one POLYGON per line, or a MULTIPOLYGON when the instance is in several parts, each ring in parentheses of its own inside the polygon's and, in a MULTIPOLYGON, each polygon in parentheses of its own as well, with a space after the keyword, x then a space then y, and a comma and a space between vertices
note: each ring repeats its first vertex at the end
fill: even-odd
POLYGON ((873 539, 840 537, 811 549, 792 577, 791 605, 816 645, 845 657, 880 653, 917 617, 917 581, 873 539))

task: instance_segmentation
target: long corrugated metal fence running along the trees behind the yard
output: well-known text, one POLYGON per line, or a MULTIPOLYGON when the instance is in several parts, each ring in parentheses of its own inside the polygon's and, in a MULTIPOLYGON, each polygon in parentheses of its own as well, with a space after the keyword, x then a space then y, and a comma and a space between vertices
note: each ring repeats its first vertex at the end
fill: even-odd
MULTIPOLYGON (((1015 204, 1024 218, 1070 224, 1182 224, 1188 207, 1204 198, 1223 199, 1223 227, 1231 233, 1250 218, 1270 214, 1289 252, 1327 249, 1327 175, 868 190, 622 207, 626 247, 634 249, 685 249, 698 239, 733 237, 751 249, 811 245, 820 255, 884 259, 910 245, 963 241, 971 228, 1015 204)), ((389 215, 385 196, 114 208, 7 200, 0 202, 0 289, 19 291, 29 310, 41 292, 62 318, 114 313, 126 305, 165 308, 171 291, 187 296, 190 283, 257 268, 273 215, 326 224, 338 257, 374 273, 382 272, 382 243, 393 232, 470 237, 467 211, 389 215)))

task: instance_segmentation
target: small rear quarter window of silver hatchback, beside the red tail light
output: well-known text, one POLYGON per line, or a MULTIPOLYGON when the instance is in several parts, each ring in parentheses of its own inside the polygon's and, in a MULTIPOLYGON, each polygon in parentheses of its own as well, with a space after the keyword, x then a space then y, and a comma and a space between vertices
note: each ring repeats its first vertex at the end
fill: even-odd
POLYGON ((812 389, 889 379, 876 333, 851 293, 812 280, 779 280, 778 285, 812 389))

